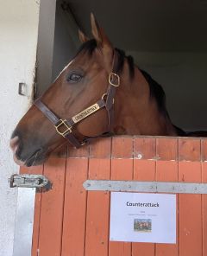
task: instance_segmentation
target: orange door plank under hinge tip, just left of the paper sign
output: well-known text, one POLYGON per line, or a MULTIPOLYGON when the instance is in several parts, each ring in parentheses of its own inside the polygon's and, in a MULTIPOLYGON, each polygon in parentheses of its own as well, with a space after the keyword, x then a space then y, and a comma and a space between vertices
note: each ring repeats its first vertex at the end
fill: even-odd
MULTIPOLYGON (((110 138, 90 147, 89 179, 110 179, 110 138)), ((109 246, 110 192, 89 191, 85 256, 106 256, 109 246)))

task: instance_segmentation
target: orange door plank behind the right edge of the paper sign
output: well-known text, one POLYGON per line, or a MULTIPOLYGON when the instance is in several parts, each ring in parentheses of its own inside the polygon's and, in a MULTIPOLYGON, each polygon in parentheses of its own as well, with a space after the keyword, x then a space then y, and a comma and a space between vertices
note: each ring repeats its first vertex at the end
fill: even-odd
MULTIPOLYGON (((178 139, 157 138, 156 139, 156 181, 178 182, 178 139)), ((176 244, 156 244, 156 256, 178 256, 179 255, 179 203, 177 195, 177 241, 176 244)))

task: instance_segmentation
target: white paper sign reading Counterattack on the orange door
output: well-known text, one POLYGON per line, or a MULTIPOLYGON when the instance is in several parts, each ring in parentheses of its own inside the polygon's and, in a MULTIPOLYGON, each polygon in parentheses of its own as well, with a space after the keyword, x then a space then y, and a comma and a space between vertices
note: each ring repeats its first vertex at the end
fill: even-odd
POLYGON ((110 240, 176 243, 176 195, 111 192, 110 240))

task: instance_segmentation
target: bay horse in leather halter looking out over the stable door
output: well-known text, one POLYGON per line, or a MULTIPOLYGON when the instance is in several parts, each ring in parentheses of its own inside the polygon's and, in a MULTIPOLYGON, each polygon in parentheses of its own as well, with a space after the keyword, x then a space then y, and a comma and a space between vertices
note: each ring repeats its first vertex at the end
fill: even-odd
POLYGON ((133 58, 114 48, 91 14, 83 44, 10 140, 19 165, 39 165, 66 140, 76 148, 111 135, 185 136, 172 124, 162 87, 133 58))

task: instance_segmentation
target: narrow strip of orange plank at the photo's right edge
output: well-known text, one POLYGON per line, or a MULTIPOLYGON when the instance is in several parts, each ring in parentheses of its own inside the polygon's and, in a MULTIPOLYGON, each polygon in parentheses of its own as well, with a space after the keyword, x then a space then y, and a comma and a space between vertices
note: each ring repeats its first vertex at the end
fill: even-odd
MULTIPOLYGON (((207 183, 207 139, 201 141, 202 182, 207 183)), ((202 235, 203 235, 203 255, 207 255, 207 195, 202 195, 202 235)))

